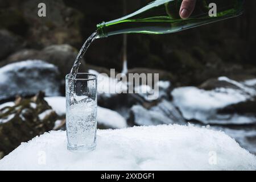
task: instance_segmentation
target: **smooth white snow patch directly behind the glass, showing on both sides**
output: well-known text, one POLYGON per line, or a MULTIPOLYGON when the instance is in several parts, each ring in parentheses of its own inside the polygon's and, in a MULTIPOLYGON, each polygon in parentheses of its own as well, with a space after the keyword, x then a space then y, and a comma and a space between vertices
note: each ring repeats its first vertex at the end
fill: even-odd
MULTIPOLYGON (((46 97, 45 100, 49 106, 59 115, 66 113, 66 98, 65 97, 46 97)), ((127 127, 126 119, 123 118, 116 111, 106 109, 104 107, 97 107, 97 122, 106 127, 113 129, 121 129, 127 127)))

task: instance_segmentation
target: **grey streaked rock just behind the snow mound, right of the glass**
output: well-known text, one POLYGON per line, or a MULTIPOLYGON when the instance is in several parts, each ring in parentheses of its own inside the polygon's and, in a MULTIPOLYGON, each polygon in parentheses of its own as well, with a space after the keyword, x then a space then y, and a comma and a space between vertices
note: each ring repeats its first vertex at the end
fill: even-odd
POLYGON ((180 111, 170 101, 163 100, 159 104, 146 109, 141 105, 134 105, 128 119, 130 126, 150 126, 179 123, 185 124, 180 111))

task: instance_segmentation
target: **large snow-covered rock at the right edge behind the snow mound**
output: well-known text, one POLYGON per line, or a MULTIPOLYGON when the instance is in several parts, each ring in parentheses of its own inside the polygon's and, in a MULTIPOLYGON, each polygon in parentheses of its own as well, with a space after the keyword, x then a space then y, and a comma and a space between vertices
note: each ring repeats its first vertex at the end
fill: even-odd
POLYGON ((251 86, 246 86, 241 82, 236 82, 226 77, 220 77, 218 80, 229 82, 236 86, 236 88, 203 90, 189 86, 176 88, 172 91, 174 104, 180 109, 184 118, 197 119, 203 123, 217 124, 255 123, 255 115, 219 114, 218 110, 250 100, 256 95, 256 90, 251 88, 251 86))

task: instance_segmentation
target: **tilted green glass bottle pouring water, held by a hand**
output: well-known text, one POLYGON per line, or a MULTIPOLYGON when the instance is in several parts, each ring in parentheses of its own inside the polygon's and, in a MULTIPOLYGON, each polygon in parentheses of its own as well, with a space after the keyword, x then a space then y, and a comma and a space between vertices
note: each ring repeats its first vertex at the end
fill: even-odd
POLYGON ((100 38, 117 34, 168 34, 217 22, 242 14, 244 0, 197 0, 188 19, 179 16, 183 0, 156 0, 142 9, 110 22, 97 25, 100 38), (216 11, 212 3, 216 5, 216 11), (214 13, 214 14, 212 14, 214 13))

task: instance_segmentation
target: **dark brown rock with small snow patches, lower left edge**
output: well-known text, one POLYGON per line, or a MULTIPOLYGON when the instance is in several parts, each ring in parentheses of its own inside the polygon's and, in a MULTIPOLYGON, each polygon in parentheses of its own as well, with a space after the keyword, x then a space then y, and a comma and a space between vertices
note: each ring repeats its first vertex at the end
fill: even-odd
POLYGON ((53 129, 57 114, 43 98, 43 92, 28 99, 17 97, 14 106, 0 109, 0 152, 4 155, 20 143, 53 129))

